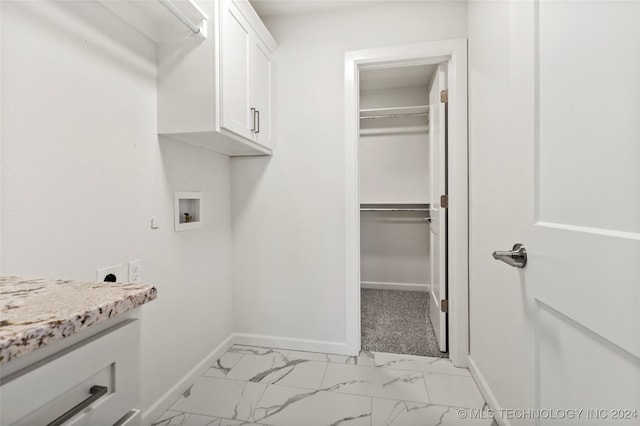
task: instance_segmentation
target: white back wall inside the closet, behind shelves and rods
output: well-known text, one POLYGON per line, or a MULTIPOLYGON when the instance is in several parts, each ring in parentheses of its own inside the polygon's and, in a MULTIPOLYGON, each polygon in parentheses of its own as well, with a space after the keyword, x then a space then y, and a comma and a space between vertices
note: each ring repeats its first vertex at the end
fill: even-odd
MULTIPOLYGON (((360 92, 360 108, 427 105, 426 86, 360 92)), ((358 146, 360 203, 429 203, 427 117, 362 120, 358 146), (409 128, 422 127, 422 130, 409 128), (403 131, 404 130, 404 131, 403 131), (393 133, 388 133, 389 131, 393 133)), ((362 212, 360 279, 430 284, 428 213, 362 212)))

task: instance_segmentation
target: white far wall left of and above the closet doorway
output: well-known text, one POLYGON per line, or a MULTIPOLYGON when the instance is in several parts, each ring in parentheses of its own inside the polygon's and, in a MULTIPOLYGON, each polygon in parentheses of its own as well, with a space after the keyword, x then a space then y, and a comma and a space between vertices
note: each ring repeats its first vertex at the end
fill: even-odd
POLYGON ((242 333, 345 342, 344 54, 466 37, 464 2, 367 2, 276 16, 272 158, 233 159, 242 333))

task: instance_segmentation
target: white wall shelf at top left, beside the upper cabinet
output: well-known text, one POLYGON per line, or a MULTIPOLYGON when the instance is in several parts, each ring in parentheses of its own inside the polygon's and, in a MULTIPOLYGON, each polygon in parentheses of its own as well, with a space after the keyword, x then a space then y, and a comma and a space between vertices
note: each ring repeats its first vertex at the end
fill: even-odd
POLYGON ((207 15, 193 0, 98 0, 105 8, 156 43, 207 37, 207 15))

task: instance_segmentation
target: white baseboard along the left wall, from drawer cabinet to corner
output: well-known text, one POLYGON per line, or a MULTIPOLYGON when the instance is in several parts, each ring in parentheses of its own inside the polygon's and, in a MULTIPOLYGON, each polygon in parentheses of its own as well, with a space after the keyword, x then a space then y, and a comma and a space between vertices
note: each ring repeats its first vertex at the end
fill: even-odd
POLYGON ((220 343, 214 350, 204 357, 195 367, 178 380, 167 392, 164 393, 154 404, 144 410, 142 414, 142 426, 151 425, 158 417, 162 415, 178 398, 186 391, 189 386, 196 382, 204 374, 204 372, 213 364, 215 360, 220 358, 234 344, 234 335, 230 335, 224 342, 220 343))

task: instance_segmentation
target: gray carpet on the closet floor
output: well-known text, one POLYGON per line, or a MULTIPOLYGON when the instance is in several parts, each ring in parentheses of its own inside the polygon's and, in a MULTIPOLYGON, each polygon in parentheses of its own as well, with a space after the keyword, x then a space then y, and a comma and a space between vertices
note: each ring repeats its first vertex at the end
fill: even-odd
POLYGON ((362 350, 446 358, 429 319, 429 293, 362 289, 362 350))

